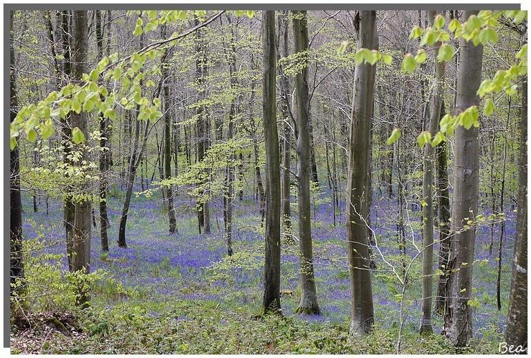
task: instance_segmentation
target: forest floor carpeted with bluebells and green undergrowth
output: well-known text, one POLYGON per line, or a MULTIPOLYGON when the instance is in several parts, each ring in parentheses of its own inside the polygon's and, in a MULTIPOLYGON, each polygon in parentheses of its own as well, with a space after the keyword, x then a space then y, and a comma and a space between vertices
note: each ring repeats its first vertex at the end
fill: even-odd
MULTIPOLYGON (((85 310, 72 308, 72 295, 68 294, 61 202, 50 201, 47 215, 43 202, 34 213, 31 198, 24 198, 23 234, 32 245, 41 242, 41 246, 35 246, 33 261, 26 266, 30 285, 36 288, 30 288, 34 297, 21 315, 24 319, 12 326, 12 354, 393 354, 399 342, 399 352, 408 354, 498 353, 510 286, 512 212, 505 215, 502 308, 497 309, 496 297, 500 224, 491 231, 487 223, 477 231, 474 337, 470 346, 458 349, 441 336, 443 319, 439 315, 433 317, 434 335, 420 337, 418 333, 421 263, 413 257, 418 253, 421 230, 420 213, 414 207, 405 211, 408 244, 406 255, 400 255, 397 205, 387 200, 373 205, 372 227, 377 228, 374 235, 381 252, 374 257, 377 268, 372 275, 374 331, 358 338, 349 335, 344 204, 337 209, 335 225, 325 193, 312 207, 315 280, 322 315, 292 313, 299 298, 298 243, 296 237, 283 235, 283 316, 257 319, 263 295, 263 228, 252 198, 234 202, 234 255, 228 257, 221 206, 211 205, 212 233, 199 235, 194 204, 184 196, 177 200, 179 233, 175 235, 168 234, 160 198, 134 198, 127 226, 128 247, 117 247, 121 191, 117 188, 112 194, 108 198, 109 253, 101 253, 99 225, 92 229, 91 306, 85 310), (404 264, 410 270, 405 295, 401 295, 399 277, 404 264)), ((437 255, 434 257, 437 268, 437 255)))

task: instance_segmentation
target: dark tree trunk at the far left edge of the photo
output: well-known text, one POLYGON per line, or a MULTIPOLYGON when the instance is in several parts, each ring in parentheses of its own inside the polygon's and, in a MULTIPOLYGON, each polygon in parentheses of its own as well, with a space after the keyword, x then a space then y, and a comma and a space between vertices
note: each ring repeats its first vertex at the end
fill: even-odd
MULTIPOLYGON (((14 11, 10 11, 10 123, 17 117, 19 101, 15 84, 15 59, 13 48, 14 11)), ((18 137, 16 138, 19 139, 18 137)), ((22 255, 22 200, 20 193, 20 154, 19 146, 10 150, 10 297, 21 297, 24 289, 24 264, 22 255), (19 285, 14 284, 20 281, 19 285)), ((21 302, 19 302, 21 303, 21 302)))

